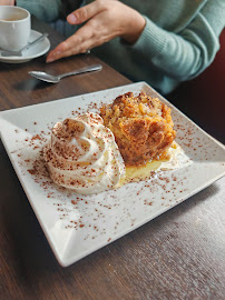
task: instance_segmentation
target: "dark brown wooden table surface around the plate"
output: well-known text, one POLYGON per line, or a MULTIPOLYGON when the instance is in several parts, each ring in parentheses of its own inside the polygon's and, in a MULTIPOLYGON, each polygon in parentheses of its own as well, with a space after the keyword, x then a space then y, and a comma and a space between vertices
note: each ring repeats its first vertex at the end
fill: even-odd
MULTIPOLYGON (((48 31, 51 46, 62 37, 48 31)), ((0 110, 127 84, 101 72, 40 83, 30 70, 67 72, 98 63, 92 54, 51 64, 45 57, 0 62, 0 110)), ((141 228, 68 268, 57 262, 0 142, 0 299, 225 299, 225 182, 218 180, 141 228)))

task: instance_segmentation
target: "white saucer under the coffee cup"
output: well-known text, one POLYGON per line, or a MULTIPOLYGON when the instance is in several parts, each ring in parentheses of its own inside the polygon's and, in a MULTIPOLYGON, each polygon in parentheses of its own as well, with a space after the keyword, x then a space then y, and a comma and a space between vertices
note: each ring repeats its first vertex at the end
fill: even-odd
MULTIPOLYGON (((40 32, 31 30, 29 42, 35 41, 41 36, 40 32)), ((8 62, 8 63, 22 63, 30 61, 35 58, 43 56, 50 48, 50 41, 48 38, 45 38, 42 41, 40 41, 37 46, 31 47, 28 50, 25 50, 22 57, 2 57, 1 56, 1 49, 0 49, 0 61, 8 62)))

